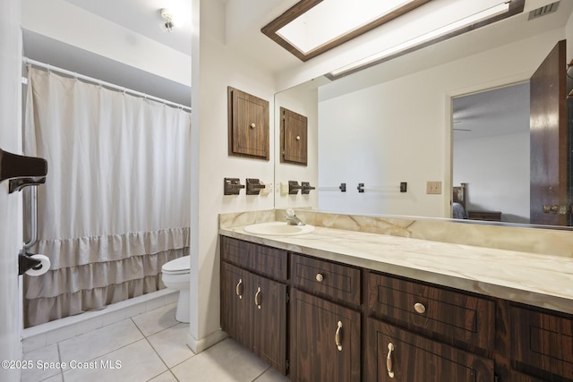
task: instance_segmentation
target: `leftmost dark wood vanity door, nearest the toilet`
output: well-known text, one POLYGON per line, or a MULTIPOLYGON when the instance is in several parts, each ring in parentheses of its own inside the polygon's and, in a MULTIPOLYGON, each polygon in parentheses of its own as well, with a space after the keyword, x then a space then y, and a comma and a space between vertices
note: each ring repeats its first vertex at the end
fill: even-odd
POLYGON ((252 349, 251 274, 226 262, 221 263, 221 328, 252 349))

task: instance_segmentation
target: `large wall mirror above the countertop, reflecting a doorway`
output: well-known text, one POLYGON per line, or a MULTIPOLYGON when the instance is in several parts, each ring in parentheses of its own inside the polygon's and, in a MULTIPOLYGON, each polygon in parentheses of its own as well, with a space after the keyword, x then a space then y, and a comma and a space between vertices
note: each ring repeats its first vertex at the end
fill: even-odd
MULTIPOLYGON (((554 225, 533 222, 528 209, 529 82, 560 40, 569 38, 573 52, 572 12, 573 2, 561 1, 543 17, 520 13, 336 81, 320 77, 278 93, 277 108, 309 117, 309 165, 277 157, 276 183, 315 176, 317 190, 315 199, 277 194, 276 206, 453 218, 454 190, 463 185, 465 222, 471 210, 482 222, 554 225)), ((571 58, 564 53, 563 75, 571 58)), ((559 215, 552 203, 546 214, 559 215)))

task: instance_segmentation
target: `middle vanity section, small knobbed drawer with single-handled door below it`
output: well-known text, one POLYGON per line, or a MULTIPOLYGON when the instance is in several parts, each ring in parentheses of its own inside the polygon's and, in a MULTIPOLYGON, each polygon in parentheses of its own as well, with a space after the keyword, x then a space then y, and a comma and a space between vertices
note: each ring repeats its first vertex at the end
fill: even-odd
POLYGON ((291 254, 291 380, 361 380, 362 316, 353 309, 360 275, 355 267, 291 254))

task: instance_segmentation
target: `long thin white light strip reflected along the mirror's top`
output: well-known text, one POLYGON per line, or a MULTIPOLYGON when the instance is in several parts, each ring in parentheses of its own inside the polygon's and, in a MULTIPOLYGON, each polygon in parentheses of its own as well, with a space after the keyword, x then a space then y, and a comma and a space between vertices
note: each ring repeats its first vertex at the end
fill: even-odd
POLYGON ((437 30, 432 30, 428 33, 424 33, 423 35, 421 35, 417 38, 412 38, 412 39, 409 39, 409 40, 407 40, 401 44, 398 44, 394 47, 389 47, 388 49, 384 49, 381 52, 378 52, 374 55, 370 55, 366 58, 363 58, 360 61, 356 61, 353 64, 348 64, 346 66, 343 66, 342 68, 339 68, 335 71, 330 72, 330 75, 332 75, 333 77, 336 77, 336 76, 339 76, 345 72, 350 72, 350 71, 352 71, 356 68, 359 68, 361 66, 372 64, 372 63, 379 61, 385 57, 388 57, 390 55, 395 55, 399 52, 402 52, 402 51, 404 51, 410 47, 419 46, 425 42, 431 41, 434 38, 440 38, 441 36, 447 35, 450 32, 466 28, 467 26, 472 25, 476 22, 483 21, 483 20, 488 19, 488 18, 493 17, 493 16, 497 16, 498 14, 501 14, 501 13, 507 13, 508 10, 509 10, 509 3, 502 3, 502 4, 492 6, 491 8, 488 8, 482 12, 474 13, 474 14, 472 14, 472 15, 464 18, 464 19, 452 22, 451 24, 445 25, 445 26, 443 26, 437 30))

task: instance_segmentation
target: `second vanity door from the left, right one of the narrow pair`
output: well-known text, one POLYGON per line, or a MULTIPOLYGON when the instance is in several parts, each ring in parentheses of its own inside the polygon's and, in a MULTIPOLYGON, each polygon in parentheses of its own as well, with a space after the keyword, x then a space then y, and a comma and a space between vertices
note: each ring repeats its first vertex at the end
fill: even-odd
POLYGON ((286 284, 252 275, 252 351, 286 374, 286 284))

